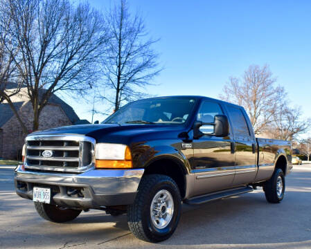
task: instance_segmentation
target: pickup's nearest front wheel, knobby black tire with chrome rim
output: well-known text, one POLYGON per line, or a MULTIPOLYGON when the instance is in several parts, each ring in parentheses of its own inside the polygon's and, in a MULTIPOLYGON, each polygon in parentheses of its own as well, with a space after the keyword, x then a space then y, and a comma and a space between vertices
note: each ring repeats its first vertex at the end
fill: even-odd
POLYGON ((138 239, 159 242, 177 228, 181 196, 175 181, 161 174, 143 176, 136 199, 127 210, 127 224, 138 239))

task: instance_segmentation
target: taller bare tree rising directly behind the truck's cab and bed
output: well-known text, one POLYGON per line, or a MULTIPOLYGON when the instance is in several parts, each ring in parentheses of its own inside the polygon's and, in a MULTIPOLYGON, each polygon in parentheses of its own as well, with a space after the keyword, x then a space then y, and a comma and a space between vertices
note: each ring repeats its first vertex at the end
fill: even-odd
POLYGON ((283 87, 275 86, 275 82, 269 66, 251 65, 242 78, 229 78, 220 98, 244 107, 257 134, 273 122, 273 116, 285 106, 287 94, 283 87))

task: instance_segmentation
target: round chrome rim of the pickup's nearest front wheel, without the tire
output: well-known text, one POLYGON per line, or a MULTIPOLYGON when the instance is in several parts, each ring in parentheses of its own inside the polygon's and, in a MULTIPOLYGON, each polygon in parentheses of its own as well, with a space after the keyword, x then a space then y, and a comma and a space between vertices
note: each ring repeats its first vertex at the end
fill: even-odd
POLYGON ((160 190, 154 195, 150 206, 150 216, 153 225, 159 229, 166 228, 172 220, 173 213, 174 201, 172 194, 167 190, 160 190))

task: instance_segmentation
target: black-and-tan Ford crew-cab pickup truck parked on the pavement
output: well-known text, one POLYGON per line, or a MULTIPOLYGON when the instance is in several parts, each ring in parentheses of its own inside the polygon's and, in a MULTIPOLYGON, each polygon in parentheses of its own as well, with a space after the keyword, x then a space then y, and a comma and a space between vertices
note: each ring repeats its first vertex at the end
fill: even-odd
POLYGON ((44 219, 82 210, 127 213, 139 239, 162 241, 181 203, 201 204, 263 187, 282 201, 292 170, 290 142, 256 138, 242 107, 200 96, 139 100, 102 124, 31 133, 15 169, 19 196, 44 219))

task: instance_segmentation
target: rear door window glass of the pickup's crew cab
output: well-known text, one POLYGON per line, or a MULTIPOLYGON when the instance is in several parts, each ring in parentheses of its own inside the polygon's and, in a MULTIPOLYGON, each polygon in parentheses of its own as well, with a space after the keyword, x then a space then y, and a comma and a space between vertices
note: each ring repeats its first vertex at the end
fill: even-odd
POLYGON ((249 137, 249 128, 247 127, 247 122, 242 110, 236 107, 227 106, 229 110, 229 115, 233 122, 233 132, 235 136, 238 137, 249 137))

